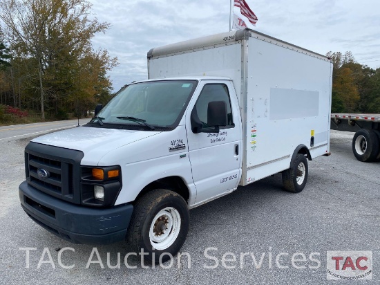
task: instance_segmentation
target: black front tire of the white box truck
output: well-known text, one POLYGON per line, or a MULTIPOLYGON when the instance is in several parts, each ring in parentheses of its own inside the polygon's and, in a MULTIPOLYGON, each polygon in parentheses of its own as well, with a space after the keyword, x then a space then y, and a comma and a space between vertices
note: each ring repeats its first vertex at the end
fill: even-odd
MULTIPOLYGON (((173 220, 174 219, 175 218, 173 218, 173 220)), ((188 230, 189 208, 187 207, 187 203, 184 201, 182 196, 169 190, 158 189, 144 194, 135 203, 133 216, 131 218, 131 223, 129 223, 129 228, 126 235, 126 241, 129 243, 132 252, 136 252, 138 255, 141 250, 144 250, 144 252, 148 253, 148 255, 144 255, 144 259, 149 261, 150 264, 154 259, 155 264, 158 264, 161 255, 161 261, 165 262, 171 259, 171 256, 176 255, 180 251, 180 248, 187 237, 188 230), (166 214, 162 214, 157 219, 156 215, 162 211, 166 214), (180 219, 177 219, 176 221, 180 221, 180 229, 178 232, 178 230, 175 230, 177 227, 173 226, 169 231, 169 236, 175 232, 178 233, 178 236, 175 237, 175 235, 172 235, 170 239, 169 237, 164 239, 165 241, 173 241, 167 248, 153 248, 153 245, 159 248, 160 245, 162 246, 164 244, 153 243, 154 240, 151 241, 149 232, 151 230, 153 220, 156 218, 155 223, 153 224, 152 235, 155 236, 153 239, 161 238, 167 235, 167 232, 162 227, 165 227, 165 224, 168 225, 168 223, 166 223, 168 222, 167 217, 171 214, 173 214, 173 217, 178 217, 177 214, 179 214, 180 219), (155 235, 154 233, 157 233, 157 231, 160 231, 160 233, 155 235), (169 253, 171 256, 167 254, 163 255, 164 253, 169 253)))

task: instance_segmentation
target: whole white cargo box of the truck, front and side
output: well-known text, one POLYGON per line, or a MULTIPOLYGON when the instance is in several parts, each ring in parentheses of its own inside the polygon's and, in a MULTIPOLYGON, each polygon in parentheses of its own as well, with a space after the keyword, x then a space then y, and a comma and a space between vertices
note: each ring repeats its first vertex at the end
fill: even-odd
POLYGON ((298 145, 312 158, 330 151, 332 63, 323 55, 247 29, 154 48, 148 72, 233 80, 245 145, 241 185, 289 168, 298 145))

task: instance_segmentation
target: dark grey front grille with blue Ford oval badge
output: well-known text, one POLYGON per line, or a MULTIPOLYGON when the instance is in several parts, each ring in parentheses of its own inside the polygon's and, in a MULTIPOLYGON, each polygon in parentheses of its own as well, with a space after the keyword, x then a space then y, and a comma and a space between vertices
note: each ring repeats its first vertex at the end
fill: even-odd
POLYGON ((26 181, 59 199, 80 203, 80 160, 82 151, 29 143, 25 149, 26 181), (39 176, 44 169, 48 177, 39 176))

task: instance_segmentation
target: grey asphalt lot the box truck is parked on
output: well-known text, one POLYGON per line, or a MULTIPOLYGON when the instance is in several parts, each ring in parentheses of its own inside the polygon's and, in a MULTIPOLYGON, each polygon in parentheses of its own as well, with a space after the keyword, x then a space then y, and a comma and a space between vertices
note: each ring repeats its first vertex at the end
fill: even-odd
POLYGON ((276 174, 191 210, 182 247, 191 262, 175 257, 168 269, 142 268, 133 257, 127 264, 136 268, 127 268, 123 242, 98 246, 102 264, 88 264, 98 261, 93 246, 73 245, 37 226, 17 194, 28 138, 0 141, 0 284, 380 284, 380 163, 357 161, 352 136, 332 131, 332 156, 310 162, 299 194, 284 192, 276 174), (29 268, 19 248, 32 248, 29 268), (328 250, 371 251, 372 281, 327 280, 328 250), (118 255, 120 268, 111 269, 118 255), (305 261, 292 263, 294 255, 305 261))

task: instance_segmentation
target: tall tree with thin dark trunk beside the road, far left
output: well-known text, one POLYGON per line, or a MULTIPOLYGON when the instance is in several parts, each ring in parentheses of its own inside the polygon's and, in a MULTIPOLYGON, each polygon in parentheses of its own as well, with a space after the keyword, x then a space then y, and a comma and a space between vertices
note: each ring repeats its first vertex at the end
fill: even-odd
POLYGON ((1 0, 0 9, 12 50, 34 63, 31 72, 37 74, 37 81, 32 85, 39 92, 45 118, 46 96, 48 102, 57 104, 59 96, 73 92, 75 74, 80 75, 70 66, 91 50, 95 33, 109 25, 89 19, 91 3, 86 0, 1 0))

